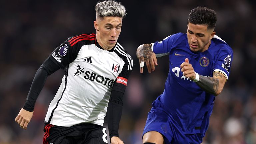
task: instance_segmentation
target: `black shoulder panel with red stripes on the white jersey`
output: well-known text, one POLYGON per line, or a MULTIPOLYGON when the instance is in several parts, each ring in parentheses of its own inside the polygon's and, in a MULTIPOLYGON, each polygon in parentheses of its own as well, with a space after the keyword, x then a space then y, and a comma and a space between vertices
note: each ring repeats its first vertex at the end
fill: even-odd
POLYGON ((96 40, 96 37, 94 33, 86 33, 86 34, 69 37, 67 41, 72 47, 77 45, 94 44, 95 40, 96 40))

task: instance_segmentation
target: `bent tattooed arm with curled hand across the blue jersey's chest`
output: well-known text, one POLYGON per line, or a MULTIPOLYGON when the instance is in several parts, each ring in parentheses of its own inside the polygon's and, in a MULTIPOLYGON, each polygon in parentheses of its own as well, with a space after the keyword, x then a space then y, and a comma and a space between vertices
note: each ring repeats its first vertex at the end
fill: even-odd
MULTIPOLYGON (((185 59, 185 62, 181 64, 181 71, 183 75, 189 77, 190 80, 196 78, 196 73, 192 65, 188 62, 188 59, 185 59)), ((221 72, 214 72, 213 77, 203 77, 199 75, 199 81, 196 84, 201 87, 207 93, 214 94, 215 96, 219 95, 223 90, 223 87, 226 83, 226 78, 221 72)))

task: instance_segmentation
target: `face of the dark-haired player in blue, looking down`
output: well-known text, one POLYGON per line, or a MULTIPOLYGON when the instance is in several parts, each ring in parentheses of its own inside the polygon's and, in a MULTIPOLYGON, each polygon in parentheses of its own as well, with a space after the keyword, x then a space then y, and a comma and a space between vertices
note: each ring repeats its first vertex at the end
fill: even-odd
POLYGON ((187 37, 190 50, 193 52, 204 52, 215 35, 213 29, 207 29, 207 25, 188 23, 187 37))

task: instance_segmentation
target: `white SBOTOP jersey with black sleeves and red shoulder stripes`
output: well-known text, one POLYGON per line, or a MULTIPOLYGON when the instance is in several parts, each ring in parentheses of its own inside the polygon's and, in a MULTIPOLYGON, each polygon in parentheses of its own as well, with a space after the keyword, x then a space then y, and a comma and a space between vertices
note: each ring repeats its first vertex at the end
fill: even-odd
POLYGON ((66 72, 45 122, 102 126, 113 86, 125 91, 133 66, 130 55, 119 43, 107 51, 97 43, 95 34, 82 34, 69 38, 49 58, 66 72))

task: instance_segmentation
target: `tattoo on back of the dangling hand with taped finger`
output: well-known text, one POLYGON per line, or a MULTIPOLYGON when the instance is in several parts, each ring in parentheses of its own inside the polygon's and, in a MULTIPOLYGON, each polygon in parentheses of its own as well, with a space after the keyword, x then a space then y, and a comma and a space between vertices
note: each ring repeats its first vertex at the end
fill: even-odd
POLYGON ((150 44, 143 44, 142 47, 137 49, 137 57, 140 61, 144 61, 149 57, 153 56, 153 51, 151 50, 150 44))

